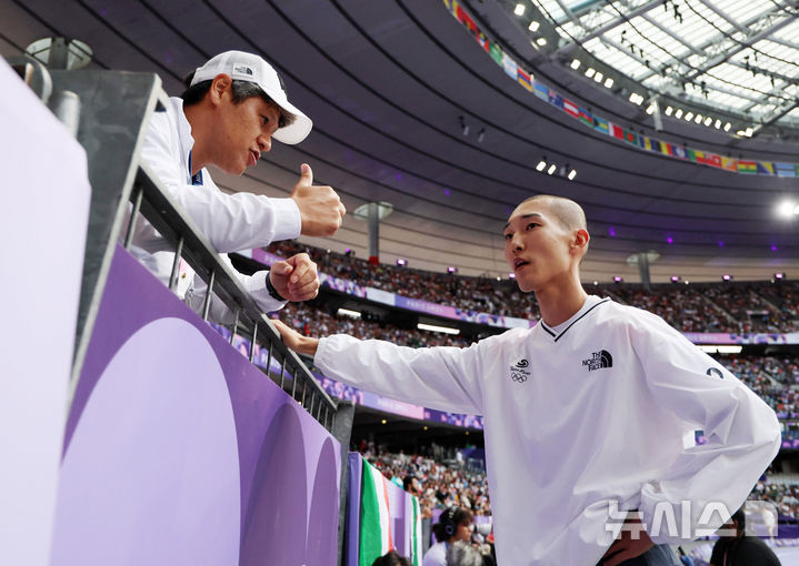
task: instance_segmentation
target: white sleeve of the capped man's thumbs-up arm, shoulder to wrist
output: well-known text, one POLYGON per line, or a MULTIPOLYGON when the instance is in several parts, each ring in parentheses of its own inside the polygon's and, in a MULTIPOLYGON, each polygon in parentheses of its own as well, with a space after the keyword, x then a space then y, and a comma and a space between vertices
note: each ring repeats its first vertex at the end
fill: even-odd
POLYGON ((270 199, 247 192, 226 194, 208 171, 203 171, 204 184, 188 183, 189 172, 182 171, 177 137, 167 112, 156 113, 144 138, 141 162, 217 251, 249 250, 300 235, 300 212, 291 199, 270 199))

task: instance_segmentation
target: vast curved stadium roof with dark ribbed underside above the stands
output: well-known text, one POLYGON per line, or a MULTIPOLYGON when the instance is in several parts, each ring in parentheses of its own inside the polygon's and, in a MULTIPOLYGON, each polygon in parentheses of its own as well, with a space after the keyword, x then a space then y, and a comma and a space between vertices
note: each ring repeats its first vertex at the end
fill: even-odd
MULTIPOLYGON (((799 37, 796 23, 788 21, 793 18, 790 9, 781 8, 785 2, 713 1, 740 24, 757 20, 752 26, 761 26, 763 13, 779 12, 748 39, 743 39, 747 32, 736 32, 738 41, 749 41, 758 50, 779 54, 782 48, 792 49, 783 44, 790 43, 791 33, 799 37), (753 41, 758 36, 762 38, 753 41)), ((699 14, 710 19, 712 8, 703 2, 689 7, 669 0, 667 10, 662 1, 560 2, 526 4, 528 16, 533 9, 552 16, 550 29, 542 22, 538 32, 551 33, 546 49, 531 44, 529 20, 513 13, 517 2, 461 3, 490 41, 550 93, 557 92, 553 100, 560 101, 559 108, 511 80, 509 69, 497 64, 485 49, 489 43, 479 44, 475 33, 453 18, 452 2, 441 0, 0 0, 0 53, 20 54, 43 37, 76 38, 92 48, 94 68, 156 72, 174 95, 182 91, 182 77, 218 52, 262 53, 283 77, 291 100, 313 119, 313 131, 300 145, 273 144, 262 158, 264 163, 241 178, 214 172, 214 179, 227 191, 286 196, 298 180, 299 164, 308 162, 316 181, 334 186, 350 212, 369 201, 388 201, 394 212, 380 231, 386 262, 405 257, 419 269, 443 272, 452 265, 460 274, 507 276, 501 236, 507 216, 523 198, 548 192, 575 199, 586 209, 592 235, 583 262, 586 281, 608 282, 615 275, 636 281, 637 267, 627 260, 645 251, 659 255, 650 267, 656 282, 671 275, 718 281, 727 273, 737 280, 763 280, 778 271, 789 279, 798 276, 799 222, 775 214, 786 199, 799 204, 796 171, 791 170, 791 178, 775 172, 777 165, 799 163, 798 145, 788 138, 749 139, 706 128, 667 115, 665 109, 662 115, 656 114, 662 121, 658 125, 656 117, 646 113, 647 104, 629 102, 615 89, 575 72, 569 63, 576 57, 595 57, 598 64, 617 57, 613 64, 629 64, 630 75, 666 88, 672 73, 693 72, 689 64, 700 69, 708 67, 707 61, 726 58, 721 65, 737 74, 719 74, 719 65, 708 67, 701 75, 706 85, 716 87, 709 78, 719 74, 742 87, 728 85, 736 94, 727 102, 708 95, 702 103, 730 108, 733 102, 746 108, 746 102, 736 101, 748 100, 747 85, 762 82, 746 80, 746 68, 736 64, 746 65, 747 54, 758 69, 789 75, 789 67, 760 54, 755 61, 751 48, 728 54, 738 49, 728 44, 723 52, 717 51, 717 43, 708 42, 723 38, 720 30, 730 33, 735 26, 721 16, 712 20, 720 30, 707 23, 699 14), (682 26, 673 20, 673 7, 683 18, 682 26), (697 29, 688 31, 688 23, 697 29), (645 44, 631 24, 668 46, 671 59, 645 44), (596 44, 597 55, 581 48, 568 51, 573 40, 562 39, 565 30, 589 48, 596 44), (591 33, 596 37, 587 39, 591 33), (646 65, 621 54, 628 40, 650 54, 652 67, 657 53, 657 65, 673 59, 673 71, 666 78, 646 78, 646 65), (603 47, 609 41, 622 49, 603 47), (697 50, 705 46, 705 51, 692 53, 688 46, 697 50), (560 49, 565 51, 558 54, 560 49), (647 151, 581 123, 565 112, 565 100, 617 124, 629 139, 660 140, 672 153, 693 148, 719 160, 740 160, 748 163, 745 170, 761 171, 762 165, 765 174, 739 174, 647 151), (548 165, 539 171, 542 159, 548 165), (550 175, 552 163, 557 166, 550 175), (577 176, 561 176, 561 169, 573 169, 577 176)), ((796 110, 791 112, 796 115, 796 110)), ((692 154, 696 160, 698 153, 692 154)), ((303 241, 337 251, 351 247, 362 257, 367 223, 348 214, 333 239, 303 241)))

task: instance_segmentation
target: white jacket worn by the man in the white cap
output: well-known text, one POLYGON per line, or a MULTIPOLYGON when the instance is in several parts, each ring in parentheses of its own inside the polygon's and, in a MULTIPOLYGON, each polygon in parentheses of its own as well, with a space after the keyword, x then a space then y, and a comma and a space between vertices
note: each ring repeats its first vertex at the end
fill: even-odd
MULTIPOLYGON (((230 265, 228 252, 269 245, 276 240, 291 240, 300 234, 301 220, 291 199, 270 199, 252 193, 226 194, 211 179, 207 169, 199 172, 202 184, 192 184, 190 153, 194 145, 191 125, 183 113, 183 101, 170 98, 164 112, 156 112, 141 149, 141 162, 188 213, 200 232, 230 265)), ((127 228, 123 228, 124 234, 127 228)), ((169 282, 173 250, 141 218, 137 223, 131 253, 164 284, 169 282)), ((181 273, 178 294, 196 311, 202 306, 206 284, 190 269, 181 273)), ((277 311, 286 303, 272 299, 266 289, 268 271, 252 276, 238 274, 239 280, 264 312, 277 311)), ((228 322, 230 313, 220 301, 211 304, 210 316, 228 322)))

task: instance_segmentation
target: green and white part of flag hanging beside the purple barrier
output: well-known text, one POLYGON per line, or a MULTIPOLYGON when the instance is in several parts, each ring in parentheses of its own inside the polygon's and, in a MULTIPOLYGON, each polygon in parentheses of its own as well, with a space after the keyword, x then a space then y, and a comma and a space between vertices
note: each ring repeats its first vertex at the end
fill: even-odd
POLYGON ((374 558, 393 548, 387 483, 386 476, 364 459, 358 566, 371 566, 374 558))

